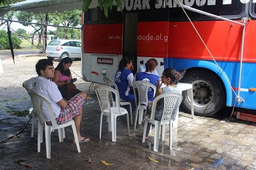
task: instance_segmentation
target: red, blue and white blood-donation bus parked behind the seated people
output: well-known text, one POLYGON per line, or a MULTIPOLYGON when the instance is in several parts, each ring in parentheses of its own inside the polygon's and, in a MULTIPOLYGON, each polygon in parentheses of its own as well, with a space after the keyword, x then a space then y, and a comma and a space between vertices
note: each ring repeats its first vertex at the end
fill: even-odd
MULTIPOLYGON (((124 1, 108 17, 99 6, 83 14, 82 75, 103 83, 114 78, 118 62, 131 56, 136 70, 149 58, 186 69, 193 84, 195 114, 210 116, 225 106, 255 110, 256 1, 124 1), (251 77, 252 75, 252 77, 251 77)), ((184 92, 183 107, 190 112, 184 92)))

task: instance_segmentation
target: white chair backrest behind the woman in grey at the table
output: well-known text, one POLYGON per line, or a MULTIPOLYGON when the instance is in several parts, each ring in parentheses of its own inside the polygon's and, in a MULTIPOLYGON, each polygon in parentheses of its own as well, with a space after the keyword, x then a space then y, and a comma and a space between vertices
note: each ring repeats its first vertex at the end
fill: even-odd
MULTIPOLYGON (((170 121, 173 117, 172 114, 175 113, 175 111, 179 110, 180 103, 182 102, 182 95, 179 93, 163 93, 162 95, 159 95, 156 97, 153 101, 152 104, 152 111, 151 111, 151 116, 150 120, 155 120, 155 113, 156 113, 156 107, 157 107, 157 102, 163 102, 163 115, 161 118, 161 121, 170 121)), ((159 104, 159 103, 158 103, 159 104)))

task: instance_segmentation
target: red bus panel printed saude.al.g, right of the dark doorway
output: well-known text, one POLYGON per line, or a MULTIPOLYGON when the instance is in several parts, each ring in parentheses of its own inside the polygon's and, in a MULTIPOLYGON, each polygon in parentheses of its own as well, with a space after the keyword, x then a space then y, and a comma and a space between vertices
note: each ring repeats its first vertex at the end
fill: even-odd
POLYGON ((168 22, 139 22, 138 56, 166 58, 168 51, 168 22))

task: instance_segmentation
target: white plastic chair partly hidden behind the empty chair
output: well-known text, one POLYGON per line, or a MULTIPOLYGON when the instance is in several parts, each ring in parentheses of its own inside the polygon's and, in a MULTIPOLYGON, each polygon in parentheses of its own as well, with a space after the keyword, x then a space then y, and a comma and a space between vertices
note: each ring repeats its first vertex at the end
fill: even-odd
MULTIPOLYGON (((112 81, 111 79, 109 79, 109 77, 103 77, 103 80, 104 80, 106 86, 114 88, 114 89, 116 89, 116 91, 118 91, 118 87, 117 87, 116 83, 114 81, 112 81)), ((118 91, 118 93, 119 93, 119 91, 118 91)), ((113 106, 115 106, 115 101, 113 100, 112 95, 111 95, 111 98, 112 98, 112 101, 113 101, 113 106)), ((120 99, 120 105, 129 105, 130 120, 131 120, 131 124, 133 124, 133 122, 132 122, 132 104, 131 104, 131 102, 124 102, 124 101, 122 101, 122 99, 120 99)))

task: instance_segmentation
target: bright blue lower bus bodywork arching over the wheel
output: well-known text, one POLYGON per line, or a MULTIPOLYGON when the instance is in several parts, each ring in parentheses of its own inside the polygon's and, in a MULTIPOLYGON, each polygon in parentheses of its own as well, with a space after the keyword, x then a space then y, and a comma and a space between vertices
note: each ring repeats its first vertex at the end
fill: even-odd
POLYGON ((238 82, 239 82, 239 65, 237 62, 221 62, 218 61, 218 65, 223 69, 223 73, 218 70, 218 67, 213 61, 200 61, 197 59, 171 59, 167 61, 168 65, 172 65, 176 70, 181 70, 182 68, 191 69, 195 68, 196 70, 201 70, 206 68, 215 72, 220 79, 223 81, 227 92, 227 106, 241 107, 244 109, 256 109, 256 92, 250 91, 250 88, 256 88, 256 79, 252 79, 256 72, 256 67, 254 63, 243 63, 243 71, 241 78, 241 91, 240 97, 244 99, 244 102, 236 102, 236 95, 238 93, 238 82), (252 76, 251 76, 252 75, 252 76), (230 77, 230 79, 225 79, 225 77, 230 77), (231 86, 228 85, 230 82, 231 86), (232 91, 234 89, 234 91, 232 91))

